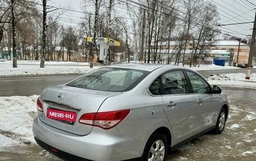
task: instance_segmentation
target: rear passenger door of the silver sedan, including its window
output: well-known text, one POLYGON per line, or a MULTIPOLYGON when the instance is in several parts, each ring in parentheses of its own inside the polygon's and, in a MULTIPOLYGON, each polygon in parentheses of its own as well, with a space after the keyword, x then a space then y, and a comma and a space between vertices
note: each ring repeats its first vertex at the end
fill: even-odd
POLYGON ((194 95, 189 92, 183 70, 163 73, 161 81, 164 112, 171 124, 176 144, 193 135, 197 104, 194 95))

